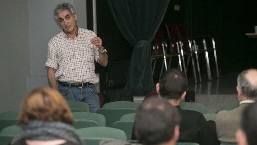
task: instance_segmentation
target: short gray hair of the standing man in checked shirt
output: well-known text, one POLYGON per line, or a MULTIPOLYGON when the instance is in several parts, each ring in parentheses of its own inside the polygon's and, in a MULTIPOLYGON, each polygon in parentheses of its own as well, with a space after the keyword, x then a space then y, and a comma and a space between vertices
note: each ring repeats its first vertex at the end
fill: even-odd
POLYGON ((58 4, 53 11, 53 15, 57 21, 58 21, 57 14, 65 10, 70 11, 71 15, 75 17, 76 11, 75 11, 75 8, 72 6, 72 4, 62 3, 62 4, 58 4))

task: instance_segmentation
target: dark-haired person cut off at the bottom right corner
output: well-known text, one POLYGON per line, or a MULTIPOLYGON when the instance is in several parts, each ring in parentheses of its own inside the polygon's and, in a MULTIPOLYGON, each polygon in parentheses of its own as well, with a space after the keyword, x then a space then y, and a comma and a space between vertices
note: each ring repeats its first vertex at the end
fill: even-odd
POLYGON ((242 114, 241 128, 237 130, 238 145, 257 144, 257 103, 249 105, 242 114))

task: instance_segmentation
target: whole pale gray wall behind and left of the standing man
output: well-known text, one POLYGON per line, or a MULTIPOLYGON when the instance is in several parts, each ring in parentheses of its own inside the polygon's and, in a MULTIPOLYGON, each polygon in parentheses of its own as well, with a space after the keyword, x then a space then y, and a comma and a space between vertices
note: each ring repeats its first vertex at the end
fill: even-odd
POLYGON ((28 91, 48 86, 47 44, 61 32, 53 10, 62 2, 75 7, 86 28, 86 0, 1 0, 0 112, 17 110, 28 91))

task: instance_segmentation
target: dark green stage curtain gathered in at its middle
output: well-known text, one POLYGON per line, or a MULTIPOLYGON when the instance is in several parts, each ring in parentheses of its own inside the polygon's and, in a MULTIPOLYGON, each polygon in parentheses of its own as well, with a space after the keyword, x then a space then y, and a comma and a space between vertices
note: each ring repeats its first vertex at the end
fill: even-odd
POLYGON ((134 47, 124 88, 127 95, 146 95, 152 91, 150 42, 163 20, 169 1, 108 0, 115 23, 134 47))

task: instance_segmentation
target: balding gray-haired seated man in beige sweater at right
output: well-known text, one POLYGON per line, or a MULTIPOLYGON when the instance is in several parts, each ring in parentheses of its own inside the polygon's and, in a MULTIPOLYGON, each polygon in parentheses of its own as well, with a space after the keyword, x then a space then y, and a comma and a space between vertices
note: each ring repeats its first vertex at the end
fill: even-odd
POLYGON ((238 75, 237 98, 240 104, 238 108, 220 111, 216 116, 217 134, 221 142, 236 142, 235 133, 240 126, 241 113, 257 98, 256 69, 248 69, 238 75))

